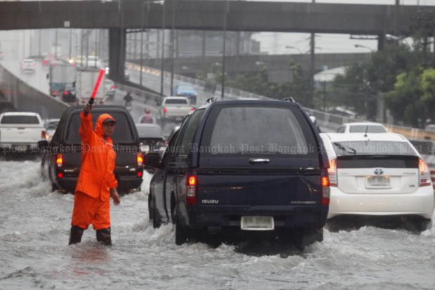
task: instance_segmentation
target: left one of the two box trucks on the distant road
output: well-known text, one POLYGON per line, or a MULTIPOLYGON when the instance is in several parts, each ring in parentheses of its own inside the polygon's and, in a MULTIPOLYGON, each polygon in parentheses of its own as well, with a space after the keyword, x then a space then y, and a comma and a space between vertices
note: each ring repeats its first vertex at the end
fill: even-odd
MULTIPOLYGON (((76 67, 62 60, 52 61, 48 70, 47 79, 48 86, 50 86, 50 95, 53 97, 61 95, 65 93, 65 86, 67 86, 67 84, 69 88, 73 86, 76 80, 76 67)), ((71 89, 69 89, 69 91, 71 91, 71 89)))

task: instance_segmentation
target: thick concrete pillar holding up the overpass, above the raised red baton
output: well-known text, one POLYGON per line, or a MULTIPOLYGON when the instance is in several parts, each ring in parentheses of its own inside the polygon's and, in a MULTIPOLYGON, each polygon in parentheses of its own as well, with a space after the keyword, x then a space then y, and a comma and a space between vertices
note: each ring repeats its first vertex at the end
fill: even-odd
POLYGON ((126 29, 109 28, 109 79, 124 81, 126 29))

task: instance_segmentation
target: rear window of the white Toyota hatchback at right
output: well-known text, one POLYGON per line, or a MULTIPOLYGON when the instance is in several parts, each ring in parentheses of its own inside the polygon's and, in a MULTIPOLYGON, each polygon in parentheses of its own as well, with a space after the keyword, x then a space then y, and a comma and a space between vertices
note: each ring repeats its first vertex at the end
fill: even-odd
POLYGON ((413 155, 417 154, 406 142, 341 141, 333 142, 337 156, 347 155, 413 155))

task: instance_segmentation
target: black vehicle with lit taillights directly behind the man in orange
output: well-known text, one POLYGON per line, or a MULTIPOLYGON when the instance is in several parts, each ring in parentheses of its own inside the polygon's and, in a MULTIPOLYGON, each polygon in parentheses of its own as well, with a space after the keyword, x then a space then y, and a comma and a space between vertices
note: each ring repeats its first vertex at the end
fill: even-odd
MULTIPOLYGON (((44 178, 51 180, 53 190, 74 192, 81 166, 81 124, 80 113, 83 106, 68 107, 63 112, 53 139, 39 141, 42 161, 41 172, 44 178)), ((130 113, 122 106, 95 105, 91 112, 95 127, 100 114, 110 114, 116 120, 112 135, 116 161, 114 174, 118 180, 119 192, 131 192, 140 189, 143 175, 143 157, 135 123, 130 113)))

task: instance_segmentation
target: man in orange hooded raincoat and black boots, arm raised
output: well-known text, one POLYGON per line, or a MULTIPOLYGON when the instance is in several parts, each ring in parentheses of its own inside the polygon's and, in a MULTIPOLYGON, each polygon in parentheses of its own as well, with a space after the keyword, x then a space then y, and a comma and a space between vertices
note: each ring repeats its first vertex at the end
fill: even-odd
POLYGON ((81 242, 83 230, 92 224, 97 241, 110 245, 110 197, 116 206, 121 202, 113 173, 116 153, 110 138, 116 121, 109 114, 102 114, 93 131, 92 117, 88 114, 91 109, 91 105, 86 104, 81 113, 81 169, 74 196, 69 244, 81 242))

